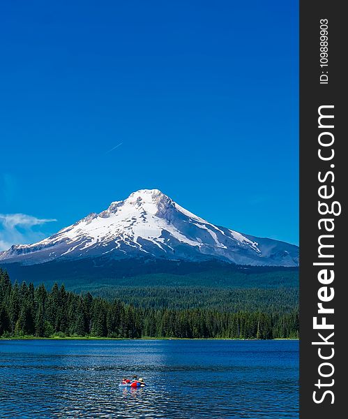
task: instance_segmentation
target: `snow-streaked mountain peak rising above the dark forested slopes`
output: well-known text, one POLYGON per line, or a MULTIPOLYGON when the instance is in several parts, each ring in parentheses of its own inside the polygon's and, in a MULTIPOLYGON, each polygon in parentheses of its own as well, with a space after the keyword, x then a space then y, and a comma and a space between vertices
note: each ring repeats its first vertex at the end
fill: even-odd
POLYGON ((214 226, 158 189, 131 193, 100 214, 91 213, 38 243, 13 245, 0 253, 0 261, 32 265, 100 256, 298 265, 297 246, 214 226))

